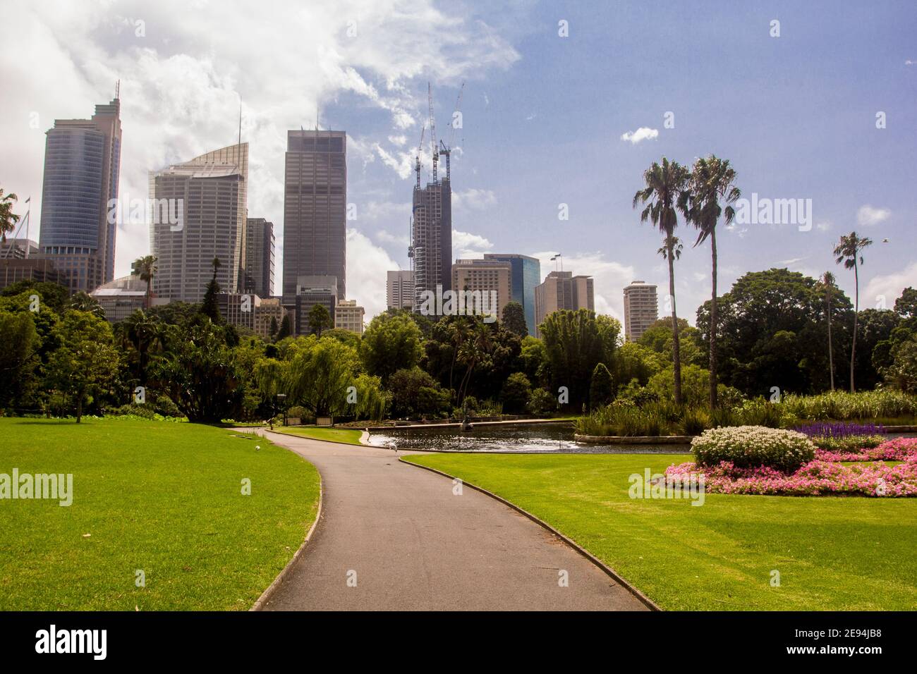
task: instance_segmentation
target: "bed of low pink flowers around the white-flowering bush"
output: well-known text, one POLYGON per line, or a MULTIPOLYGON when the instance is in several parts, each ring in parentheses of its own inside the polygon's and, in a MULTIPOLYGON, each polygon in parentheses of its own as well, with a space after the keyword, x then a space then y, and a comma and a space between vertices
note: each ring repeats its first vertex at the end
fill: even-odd
POLYGON ((702 470, 691 462, 666 470, 667 477, 690 478, 692 473, 703 473, 705 489, 710 493, 917 496, 917 454, 896 466, 881 462, 845 466, 816 459, 790 475, 767 466, 738 468, 730 461, 702 470))

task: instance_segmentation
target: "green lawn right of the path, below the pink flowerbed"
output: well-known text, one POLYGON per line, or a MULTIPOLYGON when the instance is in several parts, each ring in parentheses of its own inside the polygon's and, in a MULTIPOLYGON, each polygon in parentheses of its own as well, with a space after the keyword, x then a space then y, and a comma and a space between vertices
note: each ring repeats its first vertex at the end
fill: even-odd
POLYGON ((570 536, 668 610, 917 608, 917 499, 628 497, 688 456, 415 455, 570 536), (780 586, 771 587, 778 570, 780 586))

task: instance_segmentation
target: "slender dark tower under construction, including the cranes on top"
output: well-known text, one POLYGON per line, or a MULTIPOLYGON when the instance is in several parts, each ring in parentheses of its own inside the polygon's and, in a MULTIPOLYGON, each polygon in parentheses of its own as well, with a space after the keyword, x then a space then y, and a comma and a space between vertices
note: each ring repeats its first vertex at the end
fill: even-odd
MULTIPOLYGON (((464 85, 463 85, 464 87, 464 85)), ((451 154, 452 138, 449 144, 436 138, 436 121, 433 115, 433 94, 427 88, 430 107, 430 147, 433 158, 432 180, 421 186, 421 153, 424 147, 424 132, 421 132, 420 146, 417 148, 417 159, 414 171, 417 182, 414 184, 414 200, 411 215, 411 246, 408 257, 414 271, 414 311, 420 311, 425 291, 436 293, 436 286, 441 292, 452 288, 452 186, 451 154), (446 176, 436 174, 439 155, 446 160, 446 176)), ((456 109, 461 104, 461 93, 458 94, 456 109)), ((453 132, 455 127, 453 126, 453 132)))

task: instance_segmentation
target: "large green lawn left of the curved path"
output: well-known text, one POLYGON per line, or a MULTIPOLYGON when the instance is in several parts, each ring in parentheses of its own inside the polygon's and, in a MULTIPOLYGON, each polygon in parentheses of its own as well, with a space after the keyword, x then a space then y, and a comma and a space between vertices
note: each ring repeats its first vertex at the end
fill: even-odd
POLYGON ((317 471, 264 438, 119 418, 0 437, 0 473, 73 475, 69 507, 0 501, 0 610, 247 610, 315 520, 317 471))

